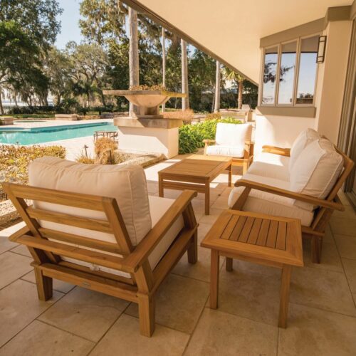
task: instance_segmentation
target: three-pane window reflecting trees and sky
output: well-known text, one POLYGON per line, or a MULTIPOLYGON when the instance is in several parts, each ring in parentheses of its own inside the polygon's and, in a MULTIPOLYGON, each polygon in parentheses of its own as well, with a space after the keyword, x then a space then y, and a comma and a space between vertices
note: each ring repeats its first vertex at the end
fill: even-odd
POLYGON ((265 48, 261 105, 313 105, 318 41, 319 35, 265 48))

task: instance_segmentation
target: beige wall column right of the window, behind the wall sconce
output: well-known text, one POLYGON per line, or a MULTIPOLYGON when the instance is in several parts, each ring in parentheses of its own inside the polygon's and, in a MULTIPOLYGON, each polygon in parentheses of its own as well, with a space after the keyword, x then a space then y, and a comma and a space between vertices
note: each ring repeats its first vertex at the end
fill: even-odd
POLYGON ((335 144, 340 127, 352 21, 333 21, 323 34, 327 37, 325 61, 319 65, 315 106, 315 130, 335 144))

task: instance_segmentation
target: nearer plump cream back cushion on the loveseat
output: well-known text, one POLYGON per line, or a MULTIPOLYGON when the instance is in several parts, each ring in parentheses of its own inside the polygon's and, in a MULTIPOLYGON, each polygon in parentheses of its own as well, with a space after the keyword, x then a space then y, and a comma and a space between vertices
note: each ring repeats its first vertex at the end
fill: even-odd
MULTIPOLYGON (((293 164, 290 190, 325 199, 340 176, 342 165, 343 158, 335 151, 332 142, 325 138, 313 141, 293 164)), ((305 206, 301 201, 295 201, 295 204, 305 206)))

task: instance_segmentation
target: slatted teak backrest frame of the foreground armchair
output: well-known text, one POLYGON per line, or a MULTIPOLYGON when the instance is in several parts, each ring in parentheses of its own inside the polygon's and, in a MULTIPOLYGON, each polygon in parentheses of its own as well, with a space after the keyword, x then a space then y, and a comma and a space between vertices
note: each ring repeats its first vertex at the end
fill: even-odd
MULTIPOLYGON (((77 244, 77 246, 83 246, 83 248, 95 248, 105 252, 117 253, 122 256, 126 256, 133 250, 120 209, 117 206, 116 200, 113 198, 11 183, 4 183, 3 187, 33 236, 42 239, 58 239, 58 241, 63 241, 63 243, 73 243, 77 244), (88 211, 101 211, 107 220, 60 213, 43 209, 42 206, 41 209, 30 207, 26 204, 24 199, 88 209, 88 211), (44 229, 39 221, 50 221, 51 223, 111 234, 116 242, 107 242, 103 241, 103 239, 92 239, 87 236, 81 236, 81 234, 78 234, 78 231, 76 231, 75 234, 68 234, 67 231, 63 232, 53 227, 51 227, 51 229, 44 229)), ((58 261, 61 261, 61 258, 53 254, 51 261, 58 263, 58 261)))

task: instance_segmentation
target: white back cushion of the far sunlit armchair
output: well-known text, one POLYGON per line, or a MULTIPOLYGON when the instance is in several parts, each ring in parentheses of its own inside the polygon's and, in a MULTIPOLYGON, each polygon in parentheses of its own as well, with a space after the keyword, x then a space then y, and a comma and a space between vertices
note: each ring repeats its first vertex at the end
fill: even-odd
POLYGON ((226 124, 219 122, 216 126, 216 145, 244 147, 251 140, 252 127, 250 124, 226 124))

